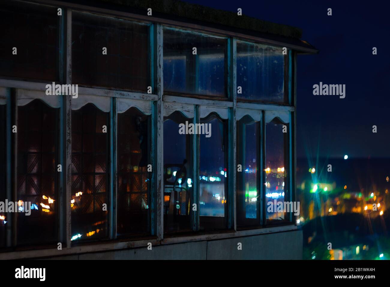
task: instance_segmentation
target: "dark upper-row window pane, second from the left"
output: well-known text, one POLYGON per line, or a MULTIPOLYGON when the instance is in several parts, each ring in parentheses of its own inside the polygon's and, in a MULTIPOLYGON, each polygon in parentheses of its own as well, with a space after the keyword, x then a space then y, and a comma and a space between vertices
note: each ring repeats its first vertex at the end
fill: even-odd
POLYGON ((146 91, 148 35, 148 25, 73 12, 73 83, 146 91))

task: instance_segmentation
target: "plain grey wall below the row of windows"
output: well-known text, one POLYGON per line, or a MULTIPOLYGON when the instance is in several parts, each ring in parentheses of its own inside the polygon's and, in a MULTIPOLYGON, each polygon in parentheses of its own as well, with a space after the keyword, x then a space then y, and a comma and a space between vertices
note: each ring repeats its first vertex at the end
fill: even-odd
POLYGON ((99 259, 302 259, 302 232, 294 230, 212 241, 197 241, 80 255, 54 257, 61 260, 99 259), (237 249, 238 242, 242 250, 237 249))

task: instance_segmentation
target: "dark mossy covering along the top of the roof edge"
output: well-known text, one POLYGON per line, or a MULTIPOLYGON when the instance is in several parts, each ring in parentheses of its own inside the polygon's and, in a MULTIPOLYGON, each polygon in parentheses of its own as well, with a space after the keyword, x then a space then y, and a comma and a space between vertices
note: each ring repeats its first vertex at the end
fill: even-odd
POLYGON ((178 0, 96 0, 95 2, 122 5, 137 9, 151 8, 153 13, 158 12, 191 20, 215 23, 239 29, 252 30, 255 32, 293 37, 296 39, 299 39, 302 36, 302 30, 296 27, 271 23, 245 15, 238 16, 237 13, 234 12, 213 9, 178 0))

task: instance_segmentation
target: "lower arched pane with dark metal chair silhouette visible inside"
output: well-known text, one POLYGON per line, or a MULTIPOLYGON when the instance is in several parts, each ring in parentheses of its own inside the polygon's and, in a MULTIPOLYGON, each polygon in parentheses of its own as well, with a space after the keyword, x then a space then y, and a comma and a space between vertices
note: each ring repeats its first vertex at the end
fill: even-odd
POLYGON ((192 135, 179 124, 192 123, 181 112, 164 118, 164 231, 191 230, 192 135))

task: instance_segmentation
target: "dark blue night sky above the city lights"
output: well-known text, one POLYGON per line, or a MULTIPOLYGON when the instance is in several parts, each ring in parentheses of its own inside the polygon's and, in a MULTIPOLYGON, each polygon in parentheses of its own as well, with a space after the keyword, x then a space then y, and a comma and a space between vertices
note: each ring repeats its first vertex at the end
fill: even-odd
POLYGON ((388 2, 185 1, 299 27, 320 50, 298 57, 298 157, 390 157, 388 2), (314 96, 319 82, 345 84, 346 97, 314 96))

